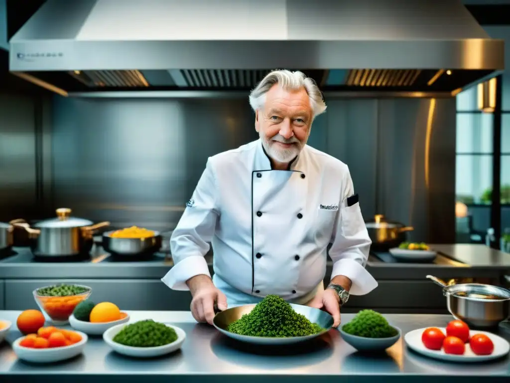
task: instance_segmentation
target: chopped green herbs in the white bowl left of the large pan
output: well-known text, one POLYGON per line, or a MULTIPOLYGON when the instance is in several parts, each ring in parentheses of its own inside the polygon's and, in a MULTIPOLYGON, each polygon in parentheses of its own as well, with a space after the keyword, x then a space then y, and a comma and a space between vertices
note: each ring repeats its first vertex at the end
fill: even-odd
POLYGON ((158 347, 176 340, 177 333, 172 327, 152 319, 128 324, 113 337, 114 342, 131 347, 158 347))

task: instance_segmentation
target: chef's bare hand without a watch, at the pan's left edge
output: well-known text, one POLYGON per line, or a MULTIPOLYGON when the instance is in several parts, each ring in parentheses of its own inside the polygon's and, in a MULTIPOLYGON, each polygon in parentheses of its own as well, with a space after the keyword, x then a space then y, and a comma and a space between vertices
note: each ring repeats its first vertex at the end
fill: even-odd
POLYGON ((207 275, 196 275, 187 281, 193 299, 191 300, 191 314, 197 322, 213 324, 215 315, 214 304, 218 309, 226 310, 226 297, 216 288, 212 279, 207 275))

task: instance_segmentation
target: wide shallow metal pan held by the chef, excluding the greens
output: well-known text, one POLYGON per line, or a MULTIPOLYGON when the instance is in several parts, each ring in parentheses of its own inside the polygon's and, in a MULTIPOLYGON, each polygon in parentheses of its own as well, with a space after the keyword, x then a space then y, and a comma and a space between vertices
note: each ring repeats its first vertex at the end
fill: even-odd
POLYGON ((258 345, 272 345, 282 346, 289 345, 299 342, 308 341, 322 334, 328 332, 333 327, 333 317, 325 311, 319 310, 318 308, 302 306, 300 304, 290 304, 296 313, 304 315, 312 323, 317 323, 319 326, 324 328, 324 331, 317 334, 308 335, 305 337, 292 337, 292 338, 272 338, 272 337, 248 337, 246 335, 239 335, 233 332, 227 331, 228 326, 240 319, 244 314, 249 314, 256 304, 246 304, 243 306, 237 306, 227 308, 226 310, 217 313, 213 319, 213 325, 228 338, 235 339, 237 341, 258 344, 258 345))

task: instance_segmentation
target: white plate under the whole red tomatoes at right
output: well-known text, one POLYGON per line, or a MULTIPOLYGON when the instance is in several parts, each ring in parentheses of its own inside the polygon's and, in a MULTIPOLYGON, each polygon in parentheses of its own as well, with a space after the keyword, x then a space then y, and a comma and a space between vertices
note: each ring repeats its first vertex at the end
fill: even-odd
MULTIPOLYGON (((440 359, 443 361, 449 362, 484 362, 491 361, 493 359, 498 359, 502 356, 505 356, 508 351, 510 351, 510 344, 503 338, 487 332, 487 331, 478 331, 478 330, 470 330, 469 336, 472 337, 474 334, 484 334, 488 336, 492 343, 494 343, 494 352, 491 355, 476 355, 469 346, 469 343, 466 343, 466 351, 464 355, 453 355, 446 354, 443 349, 441 350, 429 350, 423 345, 421 341, 421 335, 425 328, 419 328, 417 330, 409 331, 404 336, 404 341, 407 347, 410 349, 426 356, 430 356, 432 358, 440 359)), ((446 334, 445 327, 438 327, 444 334, 446 334)))

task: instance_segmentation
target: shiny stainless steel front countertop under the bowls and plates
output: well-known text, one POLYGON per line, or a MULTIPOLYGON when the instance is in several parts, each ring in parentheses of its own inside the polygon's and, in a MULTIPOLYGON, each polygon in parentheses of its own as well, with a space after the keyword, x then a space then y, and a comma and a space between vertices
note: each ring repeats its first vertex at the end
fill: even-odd
MULTIPOLYGON (((15 322, 19 313, 0 311, 0 319, 15 322)), ((274 378, 275 375, 290 376, 294 382, 315 382, 319 381, 317 380, 319 378, 327 378, 324 381, 331 382, 335 376, 364 376, 373 379, 412 375, 413 381, 415 377, 429 376, 430 379, 437 379, 444 376, 448 377, 450 382, 457 379, 465 382, 468 377, 510 377, 508 356, 503 360, 484 364, 445 363, 407 350, 403 339, 382 356, 366 356, 345 343, 335 329, 313 344, 277 351, 228 342, 227 338, 214 327, 197 324, 189 312, 128 313, 132 321, 151 318, 183 328, 187 338, 182 350, 161 358, 138 360, 111 351, 101 338, 89 338, 83 355, 58 364, 36 365, 19 361, 11 347, 4 344, 0 346, 0 375, 4 375, 0 380, 4 381, 4 378, 9 376, 19 378, 20 375, 36 375, 38 379, 45 376, 72 375, 74 382, 77 381, 75 377, 90 378, 90 374, 108 375, 108 381, 110 376, 138 376, 139 379, 143 376, 144 382, 150 382, 153 377, 158 376, 171 378, 167 381, 172 382, 179 378, 186 380, 192 376, 200 376, 202 379, 221 377, 223 383, 239 381, 240 377, 256 376, 258 380, 266 380, 274 378), (312 377, 313 380, 310 380, 312 377)), ((342 321, 346 323, 352 316, 344 314, 342 321)), ((446 326, 448 321, 452 320, 449 315, 385 315, 385 317, 392 325, 399 327, 403 334, 416 328, 446 326)), ((7 336, 8 343, 12 343, 20 336, 15 325, 13 327, 7 336)), ((510 334, 502 336, 510 338, 510 334)))

